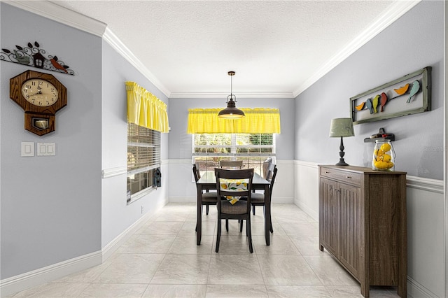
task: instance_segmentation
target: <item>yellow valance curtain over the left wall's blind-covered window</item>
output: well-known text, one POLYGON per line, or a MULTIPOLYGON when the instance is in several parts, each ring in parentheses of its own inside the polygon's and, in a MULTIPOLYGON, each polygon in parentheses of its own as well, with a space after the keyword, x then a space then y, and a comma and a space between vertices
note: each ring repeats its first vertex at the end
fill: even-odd
POLYGON ((157 130, 168 132, 167 104, 135 82, 126 82, 127 121, 157 130))

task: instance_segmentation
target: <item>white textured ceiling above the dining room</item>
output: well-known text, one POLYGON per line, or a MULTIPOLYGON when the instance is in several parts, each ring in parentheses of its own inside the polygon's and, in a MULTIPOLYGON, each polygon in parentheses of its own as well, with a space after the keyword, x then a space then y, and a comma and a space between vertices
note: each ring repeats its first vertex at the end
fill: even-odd
POLYGON ((107 24, 171 97, 228 93, 230 70, 235 94, 296 96, 354 40, 385 27, 384 15, 409 9, 404 1, 51 2, 107 24))

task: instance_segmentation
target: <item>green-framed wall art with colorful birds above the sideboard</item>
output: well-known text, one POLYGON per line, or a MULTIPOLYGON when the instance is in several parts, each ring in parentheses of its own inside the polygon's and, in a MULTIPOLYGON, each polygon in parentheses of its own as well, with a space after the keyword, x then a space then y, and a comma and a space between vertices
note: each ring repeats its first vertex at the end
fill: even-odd
POLYGON ((431 111, 431 67, 350 98, 353 125, 431 111))

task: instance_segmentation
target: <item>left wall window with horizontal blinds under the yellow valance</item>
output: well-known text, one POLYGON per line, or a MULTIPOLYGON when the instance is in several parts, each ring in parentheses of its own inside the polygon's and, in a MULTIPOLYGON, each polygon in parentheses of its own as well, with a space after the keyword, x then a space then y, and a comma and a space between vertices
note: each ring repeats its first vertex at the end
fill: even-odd
POLYGON ((155 187, 160 167, 160 132, 127 123, 127 203, 155 187), (144 190, 146 190, 144 192, 144 190))

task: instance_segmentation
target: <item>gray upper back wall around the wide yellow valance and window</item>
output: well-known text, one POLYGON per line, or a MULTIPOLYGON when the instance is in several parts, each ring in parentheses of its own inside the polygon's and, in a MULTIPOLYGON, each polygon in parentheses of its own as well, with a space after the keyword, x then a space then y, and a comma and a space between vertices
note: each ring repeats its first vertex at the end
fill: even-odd
MULTIPOLYGON (((238 96, 238 92, 235 91, 238 96)), ((226 99, 169 99, 169 158, 191 159, 192 139, 187 134, 189 108, 225 108, 226 99)), ((281 134, 276 135, 277 159, 294 158, 294 100, 237 98, 238 108, 279 108, 281 134)))

